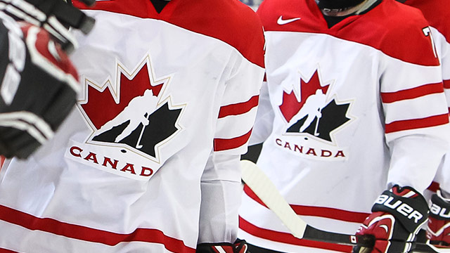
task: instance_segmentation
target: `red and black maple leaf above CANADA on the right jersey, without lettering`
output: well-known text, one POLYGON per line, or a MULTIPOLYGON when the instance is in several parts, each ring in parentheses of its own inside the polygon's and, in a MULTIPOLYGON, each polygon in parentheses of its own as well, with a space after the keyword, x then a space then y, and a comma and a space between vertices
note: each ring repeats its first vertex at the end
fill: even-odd
POLYGON ((327 101, 330 84, 321 86, 316 70, 308 82, 300 78, 300 101, 294 89, 283 91, 283 103, 279 105, 287 123, 287 133, 308 133, 326 141, 332 141, 330 132, 350 120, 347 111, 350 103, 338 104, 333 98, 327 101))

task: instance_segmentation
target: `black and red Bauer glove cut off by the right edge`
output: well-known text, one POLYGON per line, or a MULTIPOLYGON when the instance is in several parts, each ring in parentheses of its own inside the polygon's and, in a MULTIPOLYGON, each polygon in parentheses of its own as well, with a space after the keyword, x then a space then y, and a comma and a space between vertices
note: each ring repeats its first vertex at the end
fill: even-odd
POLYGON ((430 200, 427 238, 434 245, 450 245, 450 200, 440 190, 430 200))

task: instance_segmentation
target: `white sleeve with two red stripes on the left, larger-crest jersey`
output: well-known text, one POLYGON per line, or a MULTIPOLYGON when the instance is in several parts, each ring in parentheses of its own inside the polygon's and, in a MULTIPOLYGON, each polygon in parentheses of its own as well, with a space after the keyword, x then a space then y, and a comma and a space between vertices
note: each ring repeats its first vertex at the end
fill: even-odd
MULTIPOLYGON (((264 45, 262 26, 257 29, 264 45)), ((264 53, 262 48, 258 51, 264 53)), ((201 179, 200 234, 198 243, 234 242, 240 206, 240 155, 247 152, 252 133, 264 64, 252 63, 240 53, 230 59, 231 71, 217 117, 213 150, 201 179)))

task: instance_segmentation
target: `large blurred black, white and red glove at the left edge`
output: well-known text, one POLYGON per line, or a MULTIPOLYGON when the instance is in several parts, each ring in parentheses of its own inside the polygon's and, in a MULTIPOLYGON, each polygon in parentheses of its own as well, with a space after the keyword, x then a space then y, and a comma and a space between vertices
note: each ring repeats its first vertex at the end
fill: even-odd
POLYGON ((77 71, 46 30, 0 14, 0 53, 9 56, 0 64, 0 155, 26 158, 75 105, 77 71))

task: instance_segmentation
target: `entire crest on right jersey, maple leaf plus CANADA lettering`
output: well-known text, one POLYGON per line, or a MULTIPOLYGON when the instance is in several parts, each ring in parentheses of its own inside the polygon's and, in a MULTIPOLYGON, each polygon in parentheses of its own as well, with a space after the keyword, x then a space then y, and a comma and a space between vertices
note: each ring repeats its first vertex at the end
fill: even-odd
POLYGON ((285 87, 278 106, 285 125, 276 145, 311 159, 347 159, 348 149, 335 143, 333 134, 352 121, 352 101, 335 98, 333 82, 321 80, 319 67, 307 77, 299 75, 292 87, 285 87))

